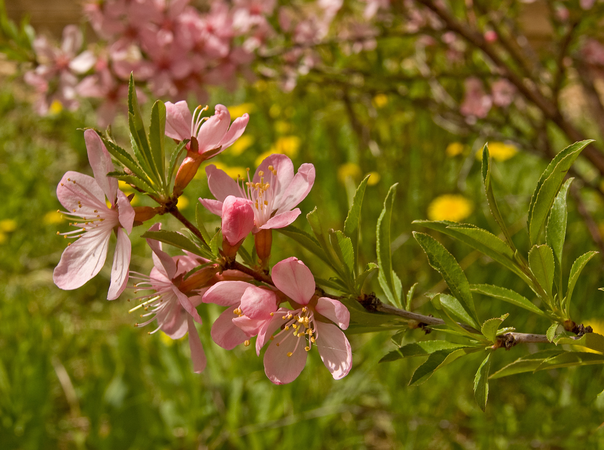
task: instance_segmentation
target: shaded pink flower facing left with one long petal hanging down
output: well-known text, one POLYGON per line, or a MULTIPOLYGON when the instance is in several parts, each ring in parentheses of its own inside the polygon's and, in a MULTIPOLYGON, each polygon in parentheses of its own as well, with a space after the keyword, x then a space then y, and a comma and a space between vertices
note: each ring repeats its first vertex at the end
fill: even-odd
MULTIPOLYGON (((160 224, 155 223, 149 228, 149 231, 158 231, 159 229, 160 224)), ((144 323, 136 325, 137 327, 145 326, 156 319, 158 326, 149 334, 162 330, 170 338, 180 339, 188 332, 193 370, 195 373, 201 373, 207 361, 204 347, 199 341, 199 334, 194 324, 194 322, 201 324, 201 317, 195 309, 195 305, 201 303, 201 292, 200 289, 195 288, 204 285, 213 278, 216 269, 214 266, 202 268, 183 281, 182 278, 187 272, 199 266, 199 260, 189 255, 170 257, 162 251, 161 242, 147 239, 147 243, 153 251, 155 266, 151 269, 148 277, 138 272, 130 272, 130 274, 132 278, 142 280, 135 285, 138 289, 152 289, 153 292, 138 297, 136 300, 146 301, 133 307, 130 312, 140 307, 144 307, 146 311, 150 309, 141 317, 152 317, 144 323), (191 278, 195 278, 196 283, 194 285, 190 283, 191 278)))

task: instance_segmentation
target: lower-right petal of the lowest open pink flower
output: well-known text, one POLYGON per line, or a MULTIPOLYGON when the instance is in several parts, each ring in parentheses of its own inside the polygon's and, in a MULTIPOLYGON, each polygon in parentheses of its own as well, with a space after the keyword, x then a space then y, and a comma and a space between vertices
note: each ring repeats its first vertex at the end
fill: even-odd
POLYGON ((335 325, 316 322, 316 346, 321 360, 332 373, 333 379, 344 378, 352 366, 352 349, 346 336, 335 325))

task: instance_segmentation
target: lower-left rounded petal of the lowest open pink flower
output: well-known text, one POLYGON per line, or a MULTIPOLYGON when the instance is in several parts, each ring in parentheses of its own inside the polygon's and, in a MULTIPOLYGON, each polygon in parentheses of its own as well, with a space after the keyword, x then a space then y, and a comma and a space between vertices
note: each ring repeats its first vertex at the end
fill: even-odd
POLYGON ((306 365, 307 352, 304 350, 304 346, 306 346, 304 338, 295 338, 289 330, 284 333, 285 338, 283 334, 275 337, 266 349, 264 356, 266 376, 274 384, 291 383, 298 378, 306 365), (277 342, 279 346, 277 346, 277 342), (296 344, 298 344, 297 348, 296 344), (292 356, 288 356, 289 352, 292 352, 292 356))

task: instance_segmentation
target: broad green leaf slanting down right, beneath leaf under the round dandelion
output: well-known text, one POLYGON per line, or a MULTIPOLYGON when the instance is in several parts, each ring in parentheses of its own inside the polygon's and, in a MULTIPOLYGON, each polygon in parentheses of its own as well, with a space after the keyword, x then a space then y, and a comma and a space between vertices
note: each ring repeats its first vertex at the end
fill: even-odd
POLYGON ((478 327, 478 317, 474 308, 474 300, 470 292, 470 284, 467 282, 466 275, 461 270, 455 258, 447 249, 436 239, 428 234, 413 232, 413 237, 417 240, 423 251, 428 256, 428 263, 435 270, 439 271, 445 279, 449 290, 464 306, 467 314, 472 318, 474 326, 478 327))

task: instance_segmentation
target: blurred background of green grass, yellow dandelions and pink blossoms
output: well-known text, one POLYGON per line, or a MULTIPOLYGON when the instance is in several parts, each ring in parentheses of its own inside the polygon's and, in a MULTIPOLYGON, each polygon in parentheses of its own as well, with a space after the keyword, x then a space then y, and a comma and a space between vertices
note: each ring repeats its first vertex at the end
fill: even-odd
MULTIPOLYGON (((316 205, 328 228, 343 227, 356 185, 370 174, 362 211, 363 266, 376 260, 377 217, 388 189, 398 183, 393 263, 403 291, 419 283, 413 309, 424 314, 434 310, 423 294, 446 286, 411 237, 426 230, 411 222, 455 220, 498 233, 481 187, 484 143, 500 208, 516 245, 526 250, 526 211, 539 175, 559 150, 594 138, 573 169, 568 273, 580 254, 602 248, 604 4, 242 0, 191 2, 193 12, 172 0, 155 2, 159 19, 147 22, 128 10, 135 4, 144 1, 4 5, 0 448, 604 448, 604 402, 596 399, 604 387, 600 365, 492 381, 483 413, 472 391, 480 357, 408 387, 422 361, 378 364, 395 348, 393 332, 384 331, 348 336, 353 369, 341 381, 333 381, 311 352, 296 381, 275 386, 253 347, 226 352, 211 342, 210 324, 220 310, 208 305, 199 308, 204 325, 198 327, 208 366, 198 375, 186 339, 172 341, 133 326, 137 317, 127 312, 126 301, 131 289, 118 300, 104 300, 108 266, 76 291, 61 291, 52 281, 65 248, 56 233, 69 228, 56 212, 57 182, 66 170, 91 173, 79 129, 111 123, 127 146, 120 94, 125 71, 134 72, 140 95, 148 98, 144 117, 156 98, 187 99, 191 110, 208 103, 210 112, 222 103, 232 117, 248 112, 245 135, 211 163, 236 174, 254 170, 271 152, 285 153, 296 167, 312 162, 315 186, 300 208, 304 215, 316 205), (182 19, 187 14, 189 22, 182 19), (63 31, 71 24, 82 32, 81 42, 76 28, 63 31), (182 30, 189 34, 181 36, 182 30), (205 33, 204 45, 191 30, 205 33), (163 40, 149 40, 150 34, 163 40), (211 47, 216 39, 220 45, 211 47), (172 45, 195 62, 184 74, 175 63, 167 69, 165 59, 150 50, 170 54, 172 45), (59 56, 69 63, 83 52, 91 54, 88 68, 60 64, 59 56), (165 77, 154 78, 158 72, 165 77), (111 114, 103 106, 109 100, 111 114)), ((179 208, 193 219, 196 199, 208 196, 200 170, 179 208)), ((152 205, 138 195, 133 204, 152 205)), ((219 226, 217 217, 204 217, 210 228, 219 226)), ((178 229, 171 219, 160 218, 166 228, 178 229)), ((303 216, 296 225, 309 230, 303 216)), ((143 228, 130 235, 131 268, 146 273, 151 261, 139 237, 143 228)), ((498 284, 531 298, 515 275, 461 243, 434 236, 470 283, 498 284)), ((275 233, 272 261, 289 256, 315 273, 326 271, 275 233)), ((596 257, 583 272, 573 318, 603 332, 601 270, 596 257)), ((365 290, 381 295, 375 278, 365 290)), ((548 327, 508 304, 478 296, 475 301, 483 319, 509 312, 506 325, 519 332, 545 333, 548 327)), ((433 336, 411 330, 405 339, 433 336)), ((493 369, 537 349, 500 350, 493 369)))

